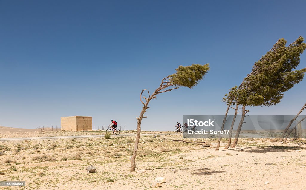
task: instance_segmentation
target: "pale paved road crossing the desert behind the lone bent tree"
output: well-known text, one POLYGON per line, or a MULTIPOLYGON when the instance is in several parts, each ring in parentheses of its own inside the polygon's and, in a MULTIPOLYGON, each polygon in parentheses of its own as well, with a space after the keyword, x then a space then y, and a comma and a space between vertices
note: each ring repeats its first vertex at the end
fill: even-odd
MULTIPOLYGON (((140 135, 173 135, 176 133, 143 133, 140 135)), ((179 133, 177 133, 179 134, 179 133)), ((122 134, 122 135, 113 135, 113 136, 136 136, 136 134, 122 134)), ((56 136, 56 137, 22 137, 22 138, 4 138, 0 141, 24 141, 24 140, 34 140, 34 139, 65 139, 65 138, 91 138, 91 137, 104 137, 104 135, 81 135, 81 136, 56 136)))

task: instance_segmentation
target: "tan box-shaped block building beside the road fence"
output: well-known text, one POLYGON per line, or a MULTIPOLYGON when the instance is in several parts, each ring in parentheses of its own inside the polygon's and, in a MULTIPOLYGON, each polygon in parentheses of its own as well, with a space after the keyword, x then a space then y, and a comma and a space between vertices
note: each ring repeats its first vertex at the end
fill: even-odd
POLYGON ((92 117, 85 117, 85 116, 61 117, 61 130, 91 131, 92 117))

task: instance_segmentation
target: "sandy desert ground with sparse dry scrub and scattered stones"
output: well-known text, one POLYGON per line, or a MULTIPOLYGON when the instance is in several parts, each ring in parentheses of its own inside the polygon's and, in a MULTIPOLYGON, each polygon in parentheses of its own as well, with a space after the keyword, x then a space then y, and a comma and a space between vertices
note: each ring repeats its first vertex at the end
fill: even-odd
MULTIPOLYGON (((2 129, 0 138, 105 133, 2 129)), ((222 139, 222 151, 215 151, 216 139, 164 134, 169 131, 143 133, 159 134, 140 137, 135 172, 130 172, 135 137, 1 141, 0 181, 26 182, 25 187, 1 189, 154 189, 151 182, 156 177, 166 178, 158 189, 306 189, 306 148, 298 141, 240 139, 237 148, 223 150, 227 141, 222 139), (172 140, 205 141, 211 147, 172 140), (86 171, 90 164, 95 173, 86 171)))

